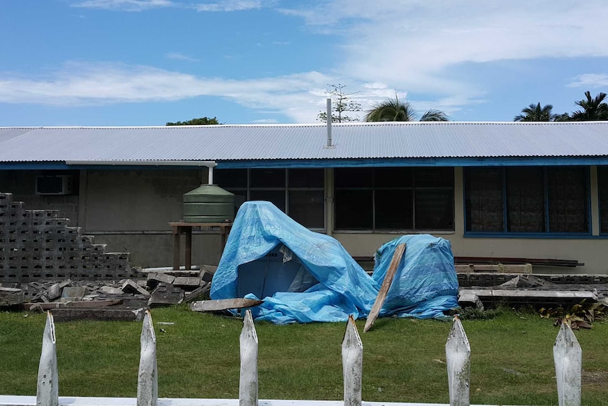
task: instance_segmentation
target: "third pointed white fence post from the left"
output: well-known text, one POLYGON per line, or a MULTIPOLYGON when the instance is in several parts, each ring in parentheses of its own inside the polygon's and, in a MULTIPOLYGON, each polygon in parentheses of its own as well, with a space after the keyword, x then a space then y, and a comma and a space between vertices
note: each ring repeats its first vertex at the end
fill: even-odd
POLYGON ((241 380, 238 405, 257 406, 257 333, 251 311, 245 311, 241 330, 241 380))

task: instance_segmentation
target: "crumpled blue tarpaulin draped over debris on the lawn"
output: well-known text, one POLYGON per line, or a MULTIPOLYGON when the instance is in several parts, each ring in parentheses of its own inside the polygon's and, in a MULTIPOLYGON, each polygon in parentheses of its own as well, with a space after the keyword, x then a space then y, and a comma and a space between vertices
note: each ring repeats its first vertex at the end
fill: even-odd
MULTIPOLYGON (((457 306, 449 241, 429 235, 401 239, 408 243, 406 255, 381 316, 443 316, 457 306)), ((211 298, 263 299, 252 309, 254 318, 279 324, 364 318, 401 239, 379 249, 370 277, 336 239, 310 231, 272 203, 245 202, 213 277, 211 298)))

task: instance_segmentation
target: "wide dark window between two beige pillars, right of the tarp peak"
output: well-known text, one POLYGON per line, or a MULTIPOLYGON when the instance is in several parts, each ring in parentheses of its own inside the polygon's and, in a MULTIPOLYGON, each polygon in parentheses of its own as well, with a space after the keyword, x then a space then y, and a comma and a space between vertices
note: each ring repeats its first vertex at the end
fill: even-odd
POLYGON ((454 229, 453 168, 336 168, 336 229, 454 229))

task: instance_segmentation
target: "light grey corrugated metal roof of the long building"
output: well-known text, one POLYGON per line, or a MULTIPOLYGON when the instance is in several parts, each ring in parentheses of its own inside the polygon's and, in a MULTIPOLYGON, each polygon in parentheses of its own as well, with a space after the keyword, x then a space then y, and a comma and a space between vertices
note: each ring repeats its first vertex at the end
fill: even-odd
POLYGON ((0 162, 605 157, 608 122, 0 128, 0 162))

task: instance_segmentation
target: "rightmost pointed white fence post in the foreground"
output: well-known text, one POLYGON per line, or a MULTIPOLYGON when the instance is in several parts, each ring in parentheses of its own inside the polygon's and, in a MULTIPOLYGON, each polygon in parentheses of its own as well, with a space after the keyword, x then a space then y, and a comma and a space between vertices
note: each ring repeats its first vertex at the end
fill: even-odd
POLYGON ((553 345, 559 406, 580 406, 580 378, 583 350, 569 324, 561 323, 553 345))

